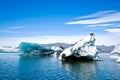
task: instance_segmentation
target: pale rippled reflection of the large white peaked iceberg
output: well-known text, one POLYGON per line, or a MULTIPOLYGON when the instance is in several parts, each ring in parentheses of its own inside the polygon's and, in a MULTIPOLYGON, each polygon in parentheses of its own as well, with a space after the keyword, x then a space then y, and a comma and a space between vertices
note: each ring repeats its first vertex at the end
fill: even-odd
POLYGON ((75 80, 95 80, 96 79, 96 62, 66 62, 62 61, 63 68, 75 80))

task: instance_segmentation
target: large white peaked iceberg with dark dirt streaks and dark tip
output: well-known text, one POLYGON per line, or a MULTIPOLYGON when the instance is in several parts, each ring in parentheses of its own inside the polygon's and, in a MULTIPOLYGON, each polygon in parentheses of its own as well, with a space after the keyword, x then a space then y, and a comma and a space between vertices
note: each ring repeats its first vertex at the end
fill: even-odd
POLYGON ((95 46, 94 33, 90 33, 82 40, 66 48, 59 56, 60 60, 71 59, 87 59, 87 60, 101 60, 98 56, 99 50, 95 46))

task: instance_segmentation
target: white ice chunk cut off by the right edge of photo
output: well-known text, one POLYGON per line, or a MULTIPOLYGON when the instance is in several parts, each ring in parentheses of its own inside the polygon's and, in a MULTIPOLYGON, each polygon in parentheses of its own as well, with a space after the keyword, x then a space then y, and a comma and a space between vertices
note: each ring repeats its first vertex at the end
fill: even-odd
POLYGON ((110 58, 116 60, 116 62, 120 62, 120 44, 115 46, 114 50, 111 52, 110 58))

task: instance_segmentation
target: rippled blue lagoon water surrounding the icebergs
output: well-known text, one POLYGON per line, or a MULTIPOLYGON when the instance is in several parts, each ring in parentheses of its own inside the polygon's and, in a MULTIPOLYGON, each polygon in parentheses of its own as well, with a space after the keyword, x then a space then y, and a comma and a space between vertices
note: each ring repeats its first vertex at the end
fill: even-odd
POLYGON ((59 61, 0 53, 0 80, 120 80, 120 63, 109 55, 101 53, 103 61, 59 61))

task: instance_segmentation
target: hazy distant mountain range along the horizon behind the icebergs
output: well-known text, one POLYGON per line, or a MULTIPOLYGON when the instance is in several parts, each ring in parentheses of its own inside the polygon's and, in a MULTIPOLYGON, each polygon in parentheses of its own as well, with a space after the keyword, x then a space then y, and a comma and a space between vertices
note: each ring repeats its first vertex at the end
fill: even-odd
MULTIPOLYGON (((73 44, 67 43, 51 43, 51 44, 41 44, 44 47, 52 47, 52 46, 62 46, 63 48, 67 48, 73 44)), ((100 50, 101 53, 110 53, 115 46, 105 46, 105 45, 98 45, 97 48, 100 50)), ((0 46, 0 52, 19 52, 18 47, 12 46, 0 46)))

